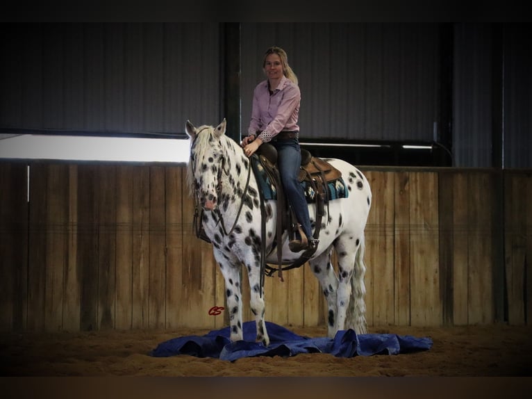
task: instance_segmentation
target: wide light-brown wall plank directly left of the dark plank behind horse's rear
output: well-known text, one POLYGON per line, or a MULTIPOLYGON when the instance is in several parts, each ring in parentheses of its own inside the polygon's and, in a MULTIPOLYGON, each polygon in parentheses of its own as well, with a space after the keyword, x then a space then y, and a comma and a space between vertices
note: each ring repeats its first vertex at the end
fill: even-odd
POLYGON ((438 174, 410 172, 411 325, 441 325, 438 174))

